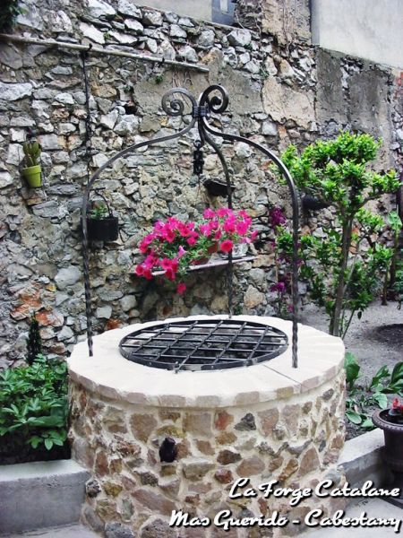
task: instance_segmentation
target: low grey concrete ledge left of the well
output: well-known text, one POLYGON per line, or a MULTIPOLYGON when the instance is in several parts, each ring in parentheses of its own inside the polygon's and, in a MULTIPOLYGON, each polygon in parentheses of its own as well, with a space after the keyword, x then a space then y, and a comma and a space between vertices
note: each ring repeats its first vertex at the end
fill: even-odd
POLYGON ((88 477, 73 460, 4 465, 0 535, 78 523, 88 477))

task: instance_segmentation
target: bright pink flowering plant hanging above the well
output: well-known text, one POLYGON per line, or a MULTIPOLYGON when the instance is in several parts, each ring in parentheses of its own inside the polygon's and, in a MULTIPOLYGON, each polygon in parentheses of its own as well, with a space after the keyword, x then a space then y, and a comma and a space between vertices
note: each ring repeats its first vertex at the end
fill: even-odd
POLYGON ((141 239, 140 252, 145 256, 135 268, 137 276, 148 280, 153 272, 164 271, 163 277, 176 284, 184 293, 184 275, 194 265, 213 252, 229 253, 239 243, 252 243, 257 231, 252 230, 252 218, 243 210, 206 209, 199 221, 180 221, 169 217, 158 221, 154 229, 141 239))

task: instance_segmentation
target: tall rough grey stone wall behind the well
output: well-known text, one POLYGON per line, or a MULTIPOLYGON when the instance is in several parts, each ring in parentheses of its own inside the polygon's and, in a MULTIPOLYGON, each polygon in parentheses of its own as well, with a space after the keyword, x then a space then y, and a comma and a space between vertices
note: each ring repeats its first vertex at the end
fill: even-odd
MULTIPOLYGON (((382 135, 380 166, 390 166, 392 151, 400 155, 401 79, 380 66, 313 48, 307 2, 297 3, 298 11, 290 19, 287 3, 239 0, 242 27, 237 29, 140 8, 128 0, 21 4, 25 12, 18 18, 17 34, 161 55, 210 69, 201 74, 90 54, 91 172, 128 144, 172 134, 180 127, 180 120, 161 111, 165 91, 183 85, 197 96, 209 83, 222 83, 230 95, 228 112, 214 119, 215 124, 277 151, 347 127, 382 135), (262 9, 262 25, 251 17, 253 5, 256 13, 262 9)), ((28 318, 34 311, 50 356, 65 355, 77 337, 83 337, 80 206, 88 167, 80 55, 65 48, 2 43, 0 64, 4 367, 23 356, 28 318), (30 190, 18 166, 25 131, 32 126, 43 146, 45 185, 30 190)), ((135 246, 151 221, 167 214, 192 217, 206 204, 221 203, 209 199, 192 176, 194 136, 117 161, 99 181, 123 229, 116 243, 91 254, 98 332, 155 317, 226 311, 222 269, 193 274, 184 297, 131 278, 139 259, 135 246)), ((290 214, 287 191, 270 178, 267 161, 253 158, 242 143, 225 145, 224 152, 234 171, 235 207, 250 211, 262 230, 268 204, 283 205, 290 214)), ((207 155, 205 169, 207 177, 219 175, 213 154, 207 155)), ((310 225, 315 228, 318 221, 310 225)), ((236 268, 236 312, 273 312, 274 273, 267 237, 263 233, 261 256, 236 268)))

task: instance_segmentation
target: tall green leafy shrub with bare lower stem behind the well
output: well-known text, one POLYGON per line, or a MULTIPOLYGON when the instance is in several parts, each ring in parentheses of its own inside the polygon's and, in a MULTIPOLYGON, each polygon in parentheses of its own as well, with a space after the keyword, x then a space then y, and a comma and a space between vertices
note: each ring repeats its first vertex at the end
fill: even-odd
MULTIPOLYGON (((282 155, 297 187, 334 209, 334 226, 324 228, 321 237, 301 238, 300 258, 301 275, 310 283, 313 300, 326 308, 330 334, 336 336, 344 336, 352 317, 368 307, 390 265, 391 249, 373 240, 383 228, 380 217, 364 208, 399 187, 394 170, 367 168, 379 147, 369 134, 341 133, 335 140, 311 144, 300 155, 293 145, 282 155)), ((280 239, 286 256, 290 237, 284 230, 280 239)))

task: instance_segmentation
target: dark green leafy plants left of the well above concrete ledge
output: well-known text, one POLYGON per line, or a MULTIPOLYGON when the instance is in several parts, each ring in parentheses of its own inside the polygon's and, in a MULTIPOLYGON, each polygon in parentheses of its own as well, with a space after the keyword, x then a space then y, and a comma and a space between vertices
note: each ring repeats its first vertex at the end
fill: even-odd
POLYGON ((62 447, 67 438, 67 367, 38 355, 27 368, 0 374, 0 437, 17 453, 62 447))

